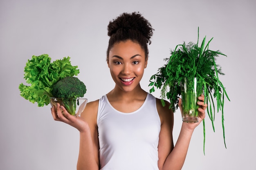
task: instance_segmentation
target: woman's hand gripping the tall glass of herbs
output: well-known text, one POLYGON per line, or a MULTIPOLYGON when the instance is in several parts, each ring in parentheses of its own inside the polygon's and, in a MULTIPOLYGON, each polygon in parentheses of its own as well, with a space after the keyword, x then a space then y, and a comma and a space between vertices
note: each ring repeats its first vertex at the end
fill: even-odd
MULTIPOLYGON (((199 116, 198 116, 198 122, 197 123, 186 123, 183 122, 183 125, 186 126, 189 129, 194 130, 196 126, 198 126, 200 124, 200 122, 202 122, 202 120, 205 118, 205 109, 207 108, 207 103, 204 103, 204 95, 201 94, 201 96, 198 97, 198 102, 197 104, 200 106, 198 108, 199 111, 199 116)), ((182 107, 181 107, 181 98, 179 99, 179 107, 180 107, 180 111, 182 111, 182 107)))

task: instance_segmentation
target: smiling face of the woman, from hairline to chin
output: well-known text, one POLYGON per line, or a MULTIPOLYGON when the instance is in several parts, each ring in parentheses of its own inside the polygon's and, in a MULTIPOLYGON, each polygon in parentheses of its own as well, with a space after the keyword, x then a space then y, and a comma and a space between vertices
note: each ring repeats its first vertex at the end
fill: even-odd
POLYGON ((116 86, 125 92, 139 85, 147 66, 145 52, 130 40, 116 43, 109 52, 108 67, 116 86))

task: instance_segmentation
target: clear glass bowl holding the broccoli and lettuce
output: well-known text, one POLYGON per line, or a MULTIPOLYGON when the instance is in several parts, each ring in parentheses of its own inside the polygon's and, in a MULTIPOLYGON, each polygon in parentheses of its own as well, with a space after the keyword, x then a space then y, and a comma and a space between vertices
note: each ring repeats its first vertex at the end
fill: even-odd
POLYGON ((65 109, 73 116, 81 116, 81 113, 85 109, 87 104, 87 98, 50 98, 51 105, 55 106, 57 103, 64 106, 65 109))

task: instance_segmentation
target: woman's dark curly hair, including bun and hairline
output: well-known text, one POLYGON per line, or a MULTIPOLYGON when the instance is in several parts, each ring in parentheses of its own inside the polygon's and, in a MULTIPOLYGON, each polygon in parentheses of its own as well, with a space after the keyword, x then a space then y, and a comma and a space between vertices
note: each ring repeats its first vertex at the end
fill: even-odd
POLYGON ((138 43, 148 58, 148 45, 154 29, 151 24, 139 12, 122 13, 108 24, 108 36, 110 36, 107 50, 107 61, 111 48, 120 41, 131 40, 138 43))

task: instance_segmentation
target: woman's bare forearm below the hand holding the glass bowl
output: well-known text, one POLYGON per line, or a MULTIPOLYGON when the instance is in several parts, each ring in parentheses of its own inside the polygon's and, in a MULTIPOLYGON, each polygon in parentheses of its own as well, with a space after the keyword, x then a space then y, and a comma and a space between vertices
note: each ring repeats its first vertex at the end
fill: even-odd
POLYGON ((83 133, 80 132, 77 170, 99 170, 97 153, 94 152, 94 145, 90 131, 83 133))

